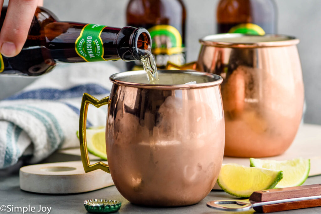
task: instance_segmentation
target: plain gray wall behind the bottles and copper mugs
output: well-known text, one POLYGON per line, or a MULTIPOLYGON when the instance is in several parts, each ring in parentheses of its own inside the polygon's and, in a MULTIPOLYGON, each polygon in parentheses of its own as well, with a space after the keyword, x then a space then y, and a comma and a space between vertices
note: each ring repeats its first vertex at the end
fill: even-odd
MULTIPOLYGON (((195 60, 198 39, 215 33, 214 16, 218 0, 183 0, 187 8, 187 61, 195 60)), ((300 39, 307 111, 305 123, 321 124, 321 1, 275 0, 278 7, 278 32, 300 39)), ((5 1, 6 3, 7 1, 5 1)), ((44 7, 64 21, 124 26, 128 0, 44 0, 44 7)), ((115 62, 125 69, 123 62, 115 62)), ((32 79, 0 78, 0 99, 29 84, 32 79)))

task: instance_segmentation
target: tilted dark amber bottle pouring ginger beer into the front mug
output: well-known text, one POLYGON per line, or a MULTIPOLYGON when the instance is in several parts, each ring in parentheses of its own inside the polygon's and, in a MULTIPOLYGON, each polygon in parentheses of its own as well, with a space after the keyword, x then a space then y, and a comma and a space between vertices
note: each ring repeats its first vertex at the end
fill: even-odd
MULTIPOLYGON (((6 10, 2 8, 0 27, 6 10)), ((0 74, 38 76, 51 71, 57 62, 140 60, 140 50, 151 49, 151 37, 143 28, 57 20, 53 13, 38 7, 22 51, 10 58, 0 54, 0 74)))

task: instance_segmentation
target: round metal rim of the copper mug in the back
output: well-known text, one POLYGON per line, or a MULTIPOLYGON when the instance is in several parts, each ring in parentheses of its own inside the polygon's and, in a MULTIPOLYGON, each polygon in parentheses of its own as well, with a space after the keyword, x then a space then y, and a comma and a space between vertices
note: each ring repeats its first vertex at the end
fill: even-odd
POLYGON ((214 47, 237 47, 237 48, 253 48, 253 47, 282 47, 297 45, 299 39, 293 36, 287 36, 282 34, 265 34, 265 35, 250 35, 242 33, 220 33, 214 35, 208 35, 199 39, 202 45, 214 46, 214 47), (257 42, 229 42, 222 41, 223 39, 240 38, 240 37, 262 37, 265 41, 257 42), (270 39, 270 41, 268 41, 270 39), (279 39, 279 40, 278 40, 279 39))

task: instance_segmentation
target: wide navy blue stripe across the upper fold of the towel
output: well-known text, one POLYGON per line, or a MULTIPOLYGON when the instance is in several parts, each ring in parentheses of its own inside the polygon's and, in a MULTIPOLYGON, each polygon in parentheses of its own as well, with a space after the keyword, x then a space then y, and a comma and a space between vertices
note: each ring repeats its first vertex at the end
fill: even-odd
POLYGON ((109 94, 110 91, 97 84, 84 84, 74 86, 66 90, 41 88, 36 90, 30 90, 22 92, 20 94, 13 95, 5 100, 16 100, 16 99, 47 99, 47 100, 58 100, 65 98, 77 98, 82 97, 82 94, 87 92, 89 94, 109 94))

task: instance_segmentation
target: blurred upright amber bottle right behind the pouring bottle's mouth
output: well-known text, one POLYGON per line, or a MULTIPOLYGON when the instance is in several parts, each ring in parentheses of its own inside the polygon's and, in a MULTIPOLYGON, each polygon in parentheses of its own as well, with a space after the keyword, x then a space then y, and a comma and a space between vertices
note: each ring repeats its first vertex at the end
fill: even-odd
MULTIPOLYGON (((186 9, 182 0, 130 0, 126 10, 127 25, 146 28, 152 37, 152 53, 158 68, 168 61, 186 62, 186 9)), ((141 62, 127 63, 127 70, 139 69, 141 62)))

